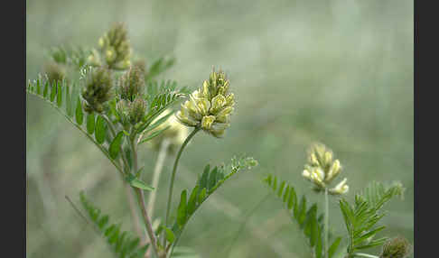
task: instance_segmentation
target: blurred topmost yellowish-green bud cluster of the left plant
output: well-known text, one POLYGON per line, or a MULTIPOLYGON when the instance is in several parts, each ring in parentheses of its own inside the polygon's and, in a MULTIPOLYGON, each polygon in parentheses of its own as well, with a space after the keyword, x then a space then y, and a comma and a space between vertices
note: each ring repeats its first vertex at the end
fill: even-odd
POLYGON ((109 69, 128 69, 131 65, 131 46, 124 23, 116 23, 98 40, 98 50, 89 56, 93 66, 107 65, 109 69))

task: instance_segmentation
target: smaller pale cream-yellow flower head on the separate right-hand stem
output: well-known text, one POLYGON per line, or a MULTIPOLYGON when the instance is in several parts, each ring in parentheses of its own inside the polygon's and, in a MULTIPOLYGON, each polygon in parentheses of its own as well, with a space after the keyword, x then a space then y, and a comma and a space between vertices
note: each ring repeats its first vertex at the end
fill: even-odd
MULTIPOLYGON (((317 191, 328 188, 332 180, 341 172, 341 164, 339 160, 333 161, 333 154, 322 143, 315 143, 308 153, 308 163, 304 165, 302 175, 305 179, 310 180, 314 184, 317 191)), ((332 195, 345 194, 349 190, 346 184, 347 179, 341 180, 334 188, 329 189, 332 195)))

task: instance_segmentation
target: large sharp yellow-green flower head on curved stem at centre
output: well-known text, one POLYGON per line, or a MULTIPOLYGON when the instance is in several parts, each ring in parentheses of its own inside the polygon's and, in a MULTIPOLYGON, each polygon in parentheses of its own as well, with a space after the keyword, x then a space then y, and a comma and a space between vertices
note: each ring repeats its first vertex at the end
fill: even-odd
POLYGON ((224 72, 212 71, 202 88, 191 93, 180 111, 178 120, 187 126, 201 127, 215 137, 221 137, 230 125, 235 96, 229 93, 229 80, 224 72))

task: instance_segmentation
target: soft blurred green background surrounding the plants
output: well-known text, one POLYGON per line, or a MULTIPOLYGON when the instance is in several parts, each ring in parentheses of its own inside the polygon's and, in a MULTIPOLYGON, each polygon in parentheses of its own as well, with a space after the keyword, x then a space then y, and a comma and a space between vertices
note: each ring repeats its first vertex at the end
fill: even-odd
MULTIPOLYGON (((349 179, 348 198, 371 180, 400 180, 403 201, 388 206, 384 235, 413 243, 413 1, 26 1, 26 75, 42 72, 45 51, 60 44, 93 47, 114 22, 125 22, 135 54, 173 55, 163 74, 201 86, 224 69, 238 97, 224 139, 198 134, 183 153, 175 196, 191 188, 208 162, 247 153, 260 163, 229 180, 196 213, 182 237, 201 257, 227 257, 248 211, 269 191, 267 172, 322 202, 302 176, 306 149, 322 142, 349 179)), ((27 257, 112 257, 79 217, 83 189, 125 229, 132 223, 117 171, 92 143, 40 99, 26 100, 27 257)), ((157 153, 144 147, 149 179, 157 153)), ((164 213, 168 158, 156 215, 164 213)), ((176 205, 176 204, 174 204, 176 205)), ((333 231, 344 233, 337 199, 333 231)), ((274 196, 251 217, 230 257, 310 257, 274 196)))

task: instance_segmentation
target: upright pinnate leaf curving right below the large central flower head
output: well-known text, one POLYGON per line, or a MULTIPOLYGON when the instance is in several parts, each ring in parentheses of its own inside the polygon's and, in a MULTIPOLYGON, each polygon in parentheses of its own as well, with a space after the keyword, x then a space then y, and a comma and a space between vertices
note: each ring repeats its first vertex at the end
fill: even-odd
POLYGON ((172 229, 166 229, 166 237, 171 245, 175 245, 182 235, 184 226, 187 225, 191 216, 201 207, 201 204, 220 188, 220 186, 229 180, 231 176, 240 170, 250 170, 257 166, 257 161, 252 157, 234 157, 228 165, 215 166, 210 169, 208 164, 205 168, 195 187, 188 196, 188 190, 182 190, 180 204, 177 207, 177 217, 173 223, 172 229))

